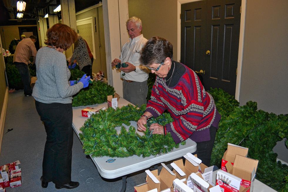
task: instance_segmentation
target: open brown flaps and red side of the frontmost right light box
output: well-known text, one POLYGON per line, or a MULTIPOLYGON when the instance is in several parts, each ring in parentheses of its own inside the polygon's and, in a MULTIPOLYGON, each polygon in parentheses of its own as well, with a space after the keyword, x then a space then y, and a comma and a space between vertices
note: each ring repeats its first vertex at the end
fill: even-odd
POLYGON ((227 172, 242 179, 241 186, 247 189, 247 192, 253 191, 254 180, 256 176, 258 160, 244 157, 241 155, 235 156, 234 165, 227 163, 227 172))

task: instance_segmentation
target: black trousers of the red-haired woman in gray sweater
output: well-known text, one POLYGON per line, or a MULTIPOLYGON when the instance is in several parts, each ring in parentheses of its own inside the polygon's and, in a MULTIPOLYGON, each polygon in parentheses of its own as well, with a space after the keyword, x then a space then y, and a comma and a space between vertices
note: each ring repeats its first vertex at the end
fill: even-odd
POLYGON ((42 163, 42 181, 62 185, 71 181, 72 104, 41 103, 35 106, 47 133, 42 163))

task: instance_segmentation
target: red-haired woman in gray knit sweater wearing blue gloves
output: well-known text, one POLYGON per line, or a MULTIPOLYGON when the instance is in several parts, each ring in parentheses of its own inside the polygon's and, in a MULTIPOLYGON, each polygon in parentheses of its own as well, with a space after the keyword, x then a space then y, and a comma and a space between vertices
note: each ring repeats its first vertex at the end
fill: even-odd
POLYGON ((75 42, 75 31, 58 23, 48 29, 46 35, 48 46, 39 49, 36 55, 38 80, 32 94, 47 133, 41 186, 46 188, 52 181, 57 189, 72 189, 79 186, 78 182, 71 181, 72 95, 88 86, 90 76, 83 76, 75 85, 74 81, 68 81, 71 74, 63 51, 75 42))

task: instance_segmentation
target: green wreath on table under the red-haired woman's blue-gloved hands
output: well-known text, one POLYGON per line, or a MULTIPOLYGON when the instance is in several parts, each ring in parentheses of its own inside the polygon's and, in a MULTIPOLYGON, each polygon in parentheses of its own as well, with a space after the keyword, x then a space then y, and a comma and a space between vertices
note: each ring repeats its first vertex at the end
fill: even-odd
MULTIPOLYGON (((81 76, 80 76, 81 77, 81 76)), ((114 95, 114 87, 101 81, 93 81, 88 88, 73 96, 73 107, 87 106, 107 102, 108 95, 114 95)))

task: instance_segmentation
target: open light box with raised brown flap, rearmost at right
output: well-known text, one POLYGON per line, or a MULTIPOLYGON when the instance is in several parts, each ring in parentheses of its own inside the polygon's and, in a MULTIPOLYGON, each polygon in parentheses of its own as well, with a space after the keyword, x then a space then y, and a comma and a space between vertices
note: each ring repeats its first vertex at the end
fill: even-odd
POLYGON ((248 148, 228 143, 227 150, 225 151, 221 161, 221 169, 223 171, 227 172, 225 166, 228 162, 232 165, 234 164, 236 154, 247 157, 248 148))

